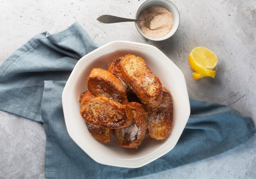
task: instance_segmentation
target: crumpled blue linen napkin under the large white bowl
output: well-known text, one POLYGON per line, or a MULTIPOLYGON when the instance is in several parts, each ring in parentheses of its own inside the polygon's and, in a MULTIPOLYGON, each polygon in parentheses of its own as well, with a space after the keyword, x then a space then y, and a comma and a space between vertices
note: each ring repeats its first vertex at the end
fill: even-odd
POLYGON ((78 23, 41 33, 0 66, 0 109, 43 122, 45 178, 133 178, 212 157, 255 134, 252 118, 216 103, 190 99, 191 115, 172 151, 140 168, 94 162, 67 133, 61 94, 76 62, 97 45, 78 23))

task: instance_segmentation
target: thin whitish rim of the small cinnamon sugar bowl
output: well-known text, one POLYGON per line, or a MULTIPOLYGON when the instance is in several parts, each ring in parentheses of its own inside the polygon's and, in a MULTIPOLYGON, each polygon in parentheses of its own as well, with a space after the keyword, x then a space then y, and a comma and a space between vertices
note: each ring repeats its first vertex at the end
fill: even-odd
MULTIPOLYGON (((148 35, 146 35, 146 34, 144 34, 142 31, 141 31, 141 29, 140 29, 140 27, 139 27, 139 22, 135 22, 135 26, 136 26, 136 28, 137 28, 137 30, 139 31, 139 33, 143 36, 143 37, 145 37, 145 38, 147 38, 147 39, 149 39, 149 40, 153 40, 153 41, 161 41, 161 40, 165 40, 165 39, 168 39, 168 38, 170 38, 171 36, 173 36, 173 34, 175 34, 175 32, 177 31, 177 29, 179 28, 179 26, 180 26, 180 12, 179 12, 179 10, 177 9, 177 7, 176 7, 176 5, 173 3, 173 2, 171 2, 171 1, 169 1, 169 0, 146 0, 146 1, 144 1, 144 2, 142 2, 140 5, 139 5, 139 7, 137 8, 137 10, 136 10, 136 13, 135 13, 135 19, 137 18, 137 13, 138 13, 138 11, 139 11, 139 9, 142 7, 142 6, 144 6, 144 4, 145 3, 147 3, 148 1, 165 1, 165 2, 167 2, 167 3, 170 3, 170 4, 172 4, 172 6, 174 7, 174 9, 175 9, 175 11, 177 11, 177 20, 178 20, 178 24, 177 24, 177 26, 174 28, 174 31, 171 33, 171 31, 168 33, 168 34, 166 34, 164 37, 160 37, 160 38, 153 38, 153 37, 149 37, 148 35)), ((153 6, 152 6, 153 7, 153 6)), ((173 14, 173 13, 172 13, 173 14)), ((172 29, 171 29, 172 30, 172 29)))

